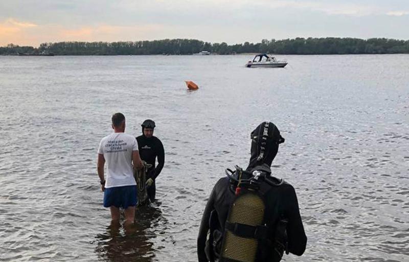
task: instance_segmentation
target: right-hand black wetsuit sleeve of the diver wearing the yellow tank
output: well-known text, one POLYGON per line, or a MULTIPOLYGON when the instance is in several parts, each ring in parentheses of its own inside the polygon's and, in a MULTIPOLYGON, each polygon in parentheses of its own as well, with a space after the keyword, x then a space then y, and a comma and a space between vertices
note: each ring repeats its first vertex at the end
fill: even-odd
POLYGON ((292 203, 287 210, 288 225, 288 251, 294 255, 301 256, 307 245, 307 236, 305 235, 303 222, 301 220, 300 208, 298 206, 296 190, 291 187, 288 193, 288 202, 292 203))

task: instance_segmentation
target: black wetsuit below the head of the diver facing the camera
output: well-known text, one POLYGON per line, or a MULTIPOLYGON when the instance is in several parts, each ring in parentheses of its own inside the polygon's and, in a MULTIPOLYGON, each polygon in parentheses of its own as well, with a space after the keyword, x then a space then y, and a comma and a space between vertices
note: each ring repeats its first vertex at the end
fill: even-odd
POLYGON ((157 137, 152 136, 150 138, 144 135, 137 137, 138 149, 141 159, 151 164, 152 167, 148 169, 147 179, 153 179, 153 184, 147 188, 148 197, 151 201, 155 199, 156 185, 155 179, 162 171, 163 165, 165 163, 165 150, 161 140, 157 137), (155 160, 157 157, 157 166, 155 166, 155 160))

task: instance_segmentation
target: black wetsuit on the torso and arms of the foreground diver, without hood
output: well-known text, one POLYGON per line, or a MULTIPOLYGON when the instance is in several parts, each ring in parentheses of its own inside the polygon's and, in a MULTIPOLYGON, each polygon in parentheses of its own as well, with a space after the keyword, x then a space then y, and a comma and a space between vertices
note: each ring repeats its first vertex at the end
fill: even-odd
MULTIPOLYGON (((205 246, 211 212, 213 210, 217 212, 217 230, 223 232, 224 223, 227 220, 230 205, 233 203, 234 197, 235 195, 231 190, 229 178, 221 178, 214 186, 202 216, 197 238, 197 255, 199 262, 208 261, 205 246)), ((288 219, 288 251, 292 254, 302 255, 307 244, 307 236, 305 235, 301 221, 296 191, 290 184, 284 183, 280 186, 271 186, 264 197, 266 202, 265 215, 269 218, 267 220, 267 227, 270 231, 269 234, 271 237, 274 237, 277 223, 281 219, 280 216, 283 215, 288 219)), ((267 252, 273 252, 272 248, 265 249, 267 252)), ((218 252, 220 252, 220 250, 218 250, 218 252)), ((267 257, 272 256, 271 253, 267 253, 267 257)), ((268 261, 274 261, 274 258, 270 258, 268 261)))

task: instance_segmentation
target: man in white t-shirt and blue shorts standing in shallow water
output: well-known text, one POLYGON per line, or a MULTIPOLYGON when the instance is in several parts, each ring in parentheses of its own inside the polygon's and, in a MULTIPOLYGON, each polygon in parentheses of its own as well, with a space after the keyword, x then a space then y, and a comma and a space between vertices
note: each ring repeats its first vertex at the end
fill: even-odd
POLYGON ((132 224, 137 204, 137 182, 133 178, 135 168, 142 167, 138 142, 125 134, 125 116, 112 115, 114 133, 104 137, 98 148, 98 176, 104 191, 104 207, 109 207, 112 221, 119 220, 119 209, 125 210, 127 224, 132 224), (107 163, 106 180, 104 165, 107 163), (133 162, 133 165, 132 165, 133 162))

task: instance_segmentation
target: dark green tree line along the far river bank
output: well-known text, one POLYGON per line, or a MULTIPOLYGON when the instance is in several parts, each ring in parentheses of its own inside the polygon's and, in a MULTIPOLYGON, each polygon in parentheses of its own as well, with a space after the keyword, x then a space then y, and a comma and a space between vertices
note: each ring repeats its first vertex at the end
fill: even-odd
POLYGON ((196 39, 163 39, 153 41, 81 42, 65 41, 41 43, 38 48, 9 44, 0 47, 0 55, 189 55, 209 51, 214 54, 270 53, 296 55, 332 54, 398 54, 409 53, 409 40, 389 38, 293 38, 263 39, 259 43, 228 45, 196 39))

